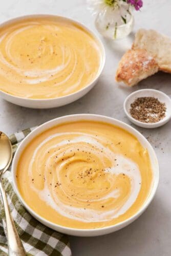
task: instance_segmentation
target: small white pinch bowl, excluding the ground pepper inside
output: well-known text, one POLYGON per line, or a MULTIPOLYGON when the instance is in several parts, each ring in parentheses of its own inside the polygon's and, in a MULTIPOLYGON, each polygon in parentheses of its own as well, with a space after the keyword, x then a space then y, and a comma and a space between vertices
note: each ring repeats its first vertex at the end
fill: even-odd
POLYGON ((150 128, 150 129, 157 128, 167 123, 171 118, 171 99, 165 93, 158 90, 143 89, 143 90, 138 90, 136 92, 131 93, 129 96, 126 97, 123 103, 123 108, 126 116, 130 119, 130 121, 143 128, 150 128), (160 102, 165 103, 166 105, 165 117, 156 123, 144 123, 133 118, 130 114, 131 103, 133 103, 135 99, 139 97, 154 97, 154 98, 157 98, 160 102))

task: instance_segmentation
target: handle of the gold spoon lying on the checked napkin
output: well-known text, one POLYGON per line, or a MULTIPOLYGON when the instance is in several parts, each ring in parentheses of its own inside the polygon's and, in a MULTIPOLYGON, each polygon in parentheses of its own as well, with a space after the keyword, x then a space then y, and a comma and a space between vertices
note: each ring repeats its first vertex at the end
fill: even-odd
POLYGON ((26 255, 22 241, 20 240, 12 216, 10 214, 7 196, 4 189, 2 178, 0 177, 0 190, 4 202, 6 225, 7 225, 7 238, 8 238, 8 255, 9 256, 24 256, 26 255))

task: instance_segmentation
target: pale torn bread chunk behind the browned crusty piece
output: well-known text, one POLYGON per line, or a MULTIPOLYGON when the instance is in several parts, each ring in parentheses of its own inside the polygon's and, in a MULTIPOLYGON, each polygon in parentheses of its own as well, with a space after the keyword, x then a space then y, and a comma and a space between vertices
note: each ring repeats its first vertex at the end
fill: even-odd
POLYGON ((135 35, 132 49, 145 49, 159 65, 159 70, 171 73, 171 38, 155 30, 140 29, 135 35))

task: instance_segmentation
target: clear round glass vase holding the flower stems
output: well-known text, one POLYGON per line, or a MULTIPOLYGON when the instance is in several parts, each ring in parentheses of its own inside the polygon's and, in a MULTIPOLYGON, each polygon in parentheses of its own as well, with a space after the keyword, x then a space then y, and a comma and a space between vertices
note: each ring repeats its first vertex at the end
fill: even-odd
POLYGON ((134 27, 131 6, 123 2, 115 7, 104 8, 96 16, 95 26, 104 37, 114 40, 126 37, 134 27))

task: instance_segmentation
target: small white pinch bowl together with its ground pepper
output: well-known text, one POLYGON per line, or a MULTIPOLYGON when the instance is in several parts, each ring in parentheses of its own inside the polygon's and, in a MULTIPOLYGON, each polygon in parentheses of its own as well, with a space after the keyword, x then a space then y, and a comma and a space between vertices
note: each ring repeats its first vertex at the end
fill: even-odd
POLYGON ((171 99, 160 90, 131 93, 125 98, 123 109, 131 122, 143 128, 157 128, 171 119, 171 99))

